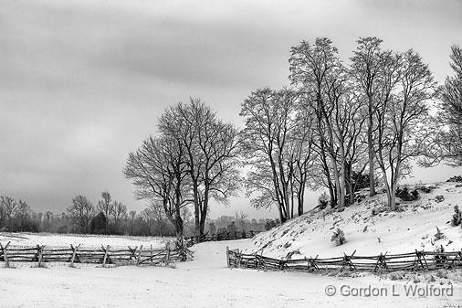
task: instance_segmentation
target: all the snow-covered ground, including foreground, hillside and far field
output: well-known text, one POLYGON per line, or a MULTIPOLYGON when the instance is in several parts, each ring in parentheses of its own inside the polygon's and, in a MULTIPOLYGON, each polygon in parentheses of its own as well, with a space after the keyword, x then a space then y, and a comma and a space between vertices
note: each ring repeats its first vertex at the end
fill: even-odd
MULTIPOLYGON (((461 205, 462 187, 440 184, 415 202, 402 203, 404 211, 373 215, 383 207, 384 196, 367 198, 342 212, 311 211, 254 239, 208 242, 195 245, 194 260, 175 268, 121 266, 100 268, 66 263, 0 263, 0 307, 460 307, 462 271, 396 273, 303 273, 226 268, 226 246, 247 252, 285 257, 298 250, 304 256, 341 256, 343 252, 370 255, 418 250, 462 249, 462 228, 451 227, 453 207, 461 205), (436 201, 436 196, 445 200, 436 201), (436 227, 445 234, 435 239, 436 227), (347 242, 331 243, 335 228, 347 242), (421 282, 422 281, 422 282, 421 282), (326 294, 335 289, 335 294, 326 294), (412 293, 415 296, 412 296, 412 293), (421 295, 419 295, 419 292, 421 295), (445 295, 441 295, 445 292, 445 295), (375 296, 380 295, 380 296, 375 296)), ((461 205, 462 206, 462 205, 461 205)), ((165 240, 138 237, 5 234, 0 242, 16 246, 126 247, 163 245, 165 240)))

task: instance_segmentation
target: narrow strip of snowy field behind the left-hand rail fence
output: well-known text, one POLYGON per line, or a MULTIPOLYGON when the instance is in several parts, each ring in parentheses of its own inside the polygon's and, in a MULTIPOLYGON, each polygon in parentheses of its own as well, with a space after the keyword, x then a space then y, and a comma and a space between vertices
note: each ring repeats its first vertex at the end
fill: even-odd
POLYGON ((165 242, 171 238, 155 237, 131 237, 131 236, 110 236, 110 235, 77 235, 77 234, 50 234, 50 233, 6 233, 0 232, 0 243, 6 244, 11 241, 11 246, 35 247, 36 245, 47 245, 48 247, 66 247, 71 244, 86 248, 100 248, 101 245, 110 245, 111 248, 127 248, 131 246, 144 248, 163 247, 165 242))

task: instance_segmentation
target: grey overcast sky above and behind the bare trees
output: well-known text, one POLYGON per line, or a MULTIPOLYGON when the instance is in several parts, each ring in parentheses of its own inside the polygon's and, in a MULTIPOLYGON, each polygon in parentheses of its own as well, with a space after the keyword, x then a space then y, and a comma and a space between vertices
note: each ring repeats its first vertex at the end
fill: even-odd
MULTIPOLYGON (((415 48, 442 81, 450 46, 462 45, 462 1, 4 0, 0 195, 59 213, 109 190, 140 210, 122 168, 166 106, 201 97, 240 125, 250 91, 288 84, 291 46, 330 37, 346 59, 360 36, 415 48)), ((418 169, 412 181, 455 174, 418 169)), ((277 215, 244 197, 211 215, 236 210, 277 215)))

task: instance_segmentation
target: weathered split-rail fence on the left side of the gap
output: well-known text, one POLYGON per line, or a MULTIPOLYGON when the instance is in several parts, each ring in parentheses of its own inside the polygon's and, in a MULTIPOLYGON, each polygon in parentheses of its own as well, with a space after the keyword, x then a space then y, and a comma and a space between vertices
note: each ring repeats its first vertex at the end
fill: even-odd
POLYGON ((9 267, 10 262, 37 262, 42 266, 47 262, 102 264, 169 264, 173 261, 185 261, 193 259, 193 252, 184 248, 170 249, 166 245, 163 249, 148 249, 135 247, 128 249, 114 249, 110 246, 101 246, 100 249, 80 248, 70 245, 69 248, 52 248, 47 246, 37 247, 13 247, 8 242, 5 246, 0 243, 0 261, 9 267))

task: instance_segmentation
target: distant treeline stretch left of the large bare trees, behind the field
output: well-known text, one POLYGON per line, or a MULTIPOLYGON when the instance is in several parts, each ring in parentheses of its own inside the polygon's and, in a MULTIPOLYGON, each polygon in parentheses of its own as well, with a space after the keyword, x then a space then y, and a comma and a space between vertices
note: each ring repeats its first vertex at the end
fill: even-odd
POLYGON ((26 201, 0 196, 0 231, 172 236, 174 230, 156 205, 129 211, 108 192, 101 194, 96 207, 86 196, 76 196, 62 213, 37 213, 26 201))

